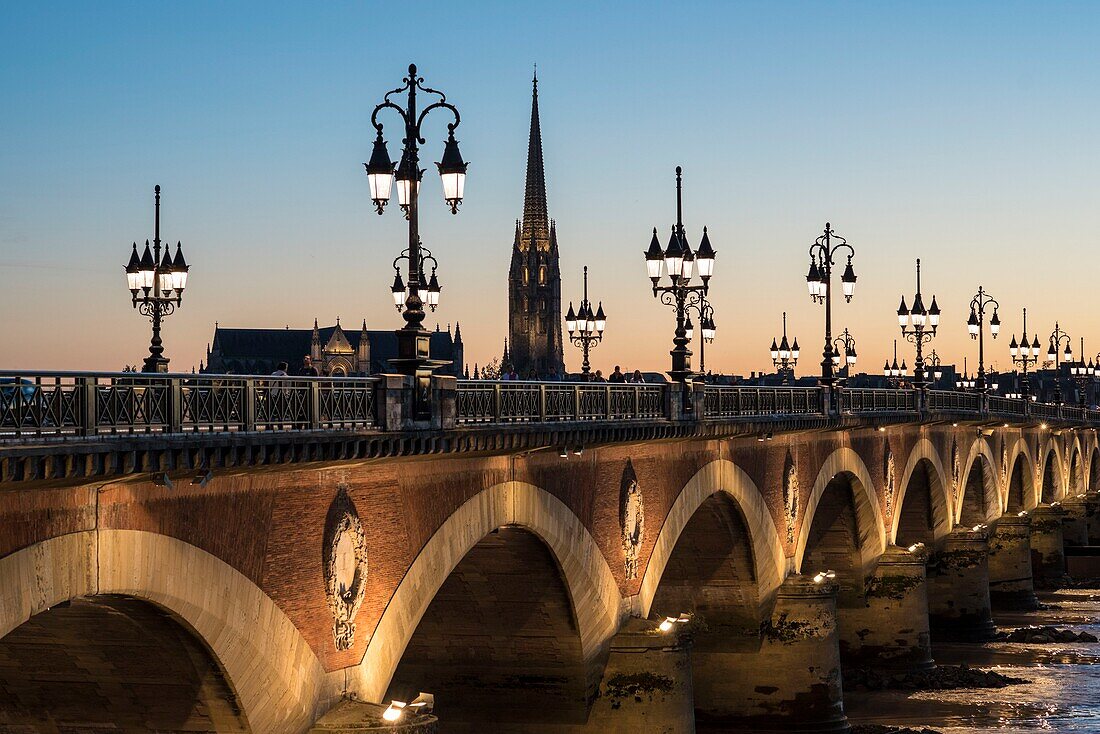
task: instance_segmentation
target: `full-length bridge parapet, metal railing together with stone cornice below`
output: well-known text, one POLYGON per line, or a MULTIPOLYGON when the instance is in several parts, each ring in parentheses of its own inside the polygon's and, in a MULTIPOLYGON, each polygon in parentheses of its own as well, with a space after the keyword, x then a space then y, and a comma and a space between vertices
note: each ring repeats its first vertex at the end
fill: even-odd
POLYGON ((732 437, 887 423, 1100 427, 1100 412, 974 393, 695 383, 0 373, 0 482, 732 437))

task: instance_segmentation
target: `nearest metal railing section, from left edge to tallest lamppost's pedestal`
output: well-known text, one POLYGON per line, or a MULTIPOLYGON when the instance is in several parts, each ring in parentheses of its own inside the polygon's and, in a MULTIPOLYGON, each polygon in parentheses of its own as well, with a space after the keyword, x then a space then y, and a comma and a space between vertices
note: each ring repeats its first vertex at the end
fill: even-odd
POLYGON ((0 436, 369 428, 373 377, 0 374, 0 436))

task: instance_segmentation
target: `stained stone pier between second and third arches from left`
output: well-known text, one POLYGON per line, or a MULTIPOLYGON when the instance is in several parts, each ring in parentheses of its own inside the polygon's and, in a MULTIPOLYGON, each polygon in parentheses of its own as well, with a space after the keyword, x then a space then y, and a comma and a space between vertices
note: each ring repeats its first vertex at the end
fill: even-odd
POLYGON ((681 627, 661 632, 656 623, 638 618, 623 626, 612 638, 585 732, 694 733, 691 643, 681 627))

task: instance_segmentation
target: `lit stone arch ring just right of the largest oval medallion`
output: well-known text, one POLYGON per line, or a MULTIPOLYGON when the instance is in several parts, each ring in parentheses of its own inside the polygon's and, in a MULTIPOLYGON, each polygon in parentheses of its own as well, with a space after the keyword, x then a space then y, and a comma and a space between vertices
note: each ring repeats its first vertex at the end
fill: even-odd
POLYGON ((440 588, 479 543, 506 527, 530 532, 552 555, 569 594, 585 662, 592 665, 605 653, 618 629, 623 602, 600 547, 576 515, 552 494, 525 482, 504 482, 468 500, 425 544, 391 598, 363 660, 349 670, 349 690, 363 700, 383 701, 440 588))

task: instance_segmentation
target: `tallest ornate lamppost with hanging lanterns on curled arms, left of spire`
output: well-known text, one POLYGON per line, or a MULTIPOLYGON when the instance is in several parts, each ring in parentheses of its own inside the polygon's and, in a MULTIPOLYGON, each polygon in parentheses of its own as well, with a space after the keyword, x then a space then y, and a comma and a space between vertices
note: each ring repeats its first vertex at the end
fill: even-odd
POLYGON ((391 293, 394 304, 405 318, 405 326, 396 330, 397 333, 397 359, 391 360, 393 365, 402 374, 416 377, 416 401, 415 413, 418 419, 430 416, 431 397, 431 372, 436 368, 447 364, 444 361, 432 360, 429 354, 428 342, 430 333, 424 328, 424 306, 427 304, 432 310, 439 304, 439 280, 436 277, 436 259, 420 242, 420 220, 419 220, 419 198, 420 179, 424 171, 420 168, 420 144, 425 142, 421 136, 421 127, 425 118, 432 110, 447 110, 454 117, 454 122, 447 125, 447 143, 443 146, 443 157, 436 164, 439 176, 443 184, 443 200, 451 209, 451 213, 458 213, 459 205, 465 188, 466 163, 463 162, 459 153, 459 143, 454 140, 454 129, 459 127, 461 118, 453 105, 447 101, 443 92, 424 84, 424 77, 417 76, 416 64, 409 64, 409 74, 405 77, 404 86, 386 92, 382 103, 374 108, 371 114, 371 124, 377 131, 374 140, 374 150, 371 153, 371 161, 366 163, 366 177, 371 184, 371 200, 381 215, 389 201, 394 176, 394 164, 389 160, 389 152, 386 150, 386 142, 382 138, 382 123, 378 122, 378 112, 391 109, 397 112, 405 125, 405 138, 402 141, 402 160, 397 165, 397 199, 405 218, 409 222, 409 244, 394 260, 394 285, 391 293), (417 91, 438 97, 421 111, 417 111, 417 91), (392 102, 389 98, 394 95, 406 94, 405 107, 392 102), (402 282, 399 263, 408 263, 408 286, 402 282), (431 262, 431 277, 425 277, 425 265, 431 262))

